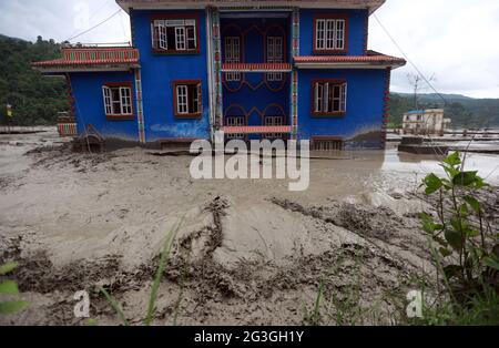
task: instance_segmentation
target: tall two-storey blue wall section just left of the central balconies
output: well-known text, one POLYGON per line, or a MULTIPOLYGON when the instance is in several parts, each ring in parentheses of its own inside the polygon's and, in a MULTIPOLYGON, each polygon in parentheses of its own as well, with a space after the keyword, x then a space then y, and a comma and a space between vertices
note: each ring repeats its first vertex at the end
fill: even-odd
POLYGON ((206 21, 204 11, 138 11, 131 13, 134 45, 140 50, 145 119, 145 139, 155 142, 171 137, 210 139, 210 99, 206 68, 206 21), (152 51, 151 17, 184 13, 198 16, 198 54, 160 54, 152 51), (176 119, 173 110, 173 81, 202 80, 201 119, 176 119))

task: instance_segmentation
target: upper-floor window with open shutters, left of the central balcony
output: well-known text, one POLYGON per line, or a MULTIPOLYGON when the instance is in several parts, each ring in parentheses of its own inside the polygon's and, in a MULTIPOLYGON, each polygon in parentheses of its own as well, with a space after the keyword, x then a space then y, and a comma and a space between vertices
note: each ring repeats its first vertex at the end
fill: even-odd
POLYGON ((157 52, 198 52, 197 20, 155 19, 151 23, 152 47, 157 52))

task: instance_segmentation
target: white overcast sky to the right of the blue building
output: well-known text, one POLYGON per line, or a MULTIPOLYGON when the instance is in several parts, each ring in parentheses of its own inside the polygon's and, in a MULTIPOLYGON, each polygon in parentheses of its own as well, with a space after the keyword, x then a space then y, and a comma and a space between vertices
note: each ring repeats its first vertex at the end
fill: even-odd
MULTIPOLYGON (((441 93, 499 98, 499 1, 388 0, 376 12, 407 57, 441 93)), ((400 55, 375 18, 369 45, 400 55)), ((393 73, 393 90, 408 92, 411 64, 393 73)), ((427 90, 431 92, 430 89, 427 90)))

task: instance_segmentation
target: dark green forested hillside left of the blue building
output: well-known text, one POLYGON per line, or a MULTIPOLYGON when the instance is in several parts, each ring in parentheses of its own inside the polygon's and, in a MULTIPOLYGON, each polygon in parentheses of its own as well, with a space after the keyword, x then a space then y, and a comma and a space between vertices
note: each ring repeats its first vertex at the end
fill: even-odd
POLYGON ((59 58, 59 50, 53 40, 32 43, 0 35, 0 124, 7 120, 7 103, 18 125, 54 124, 57 113, 68 109, 64 79, 44 78, 30 65, 59 58))

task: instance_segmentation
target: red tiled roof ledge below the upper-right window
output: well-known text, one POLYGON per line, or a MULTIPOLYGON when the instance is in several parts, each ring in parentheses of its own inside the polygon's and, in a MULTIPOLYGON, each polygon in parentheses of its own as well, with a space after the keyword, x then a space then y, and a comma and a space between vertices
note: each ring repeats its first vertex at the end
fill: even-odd
POLYGON ((406 60, 368 51, 367 55, 301 55, 295 57, 295 63, 368 63, 380 65, 405 65, 406 60))

